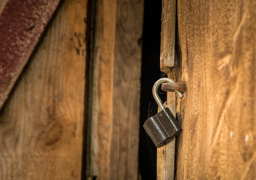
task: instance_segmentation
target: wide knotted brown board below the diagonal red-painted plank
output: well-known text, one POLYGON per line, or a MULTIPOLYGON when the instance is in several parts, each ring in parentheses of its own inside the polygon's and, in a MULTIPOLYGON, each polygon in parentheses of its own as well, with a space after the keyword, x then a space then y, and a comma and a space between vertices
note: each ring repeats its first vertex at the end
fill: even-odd
POLYGON ((81 179, 86 0, 65 0, 0 114, 0 179, 81 179))

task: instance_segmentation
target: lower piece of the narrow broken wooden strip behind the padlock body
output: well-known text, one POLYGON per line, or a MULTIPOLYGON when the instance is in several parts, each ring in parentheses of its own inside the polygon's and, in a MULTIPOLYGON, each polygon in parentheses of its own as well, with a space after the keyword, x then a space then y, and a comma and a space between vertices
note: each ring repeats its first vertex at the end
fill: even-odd
MULTIPOLYGON (((176 104, 164 104, 169 107, 174 117, 176 116, 176 104)), ((157 148, 157 179, 174 179, 175 137, 167 145, 157 148)))

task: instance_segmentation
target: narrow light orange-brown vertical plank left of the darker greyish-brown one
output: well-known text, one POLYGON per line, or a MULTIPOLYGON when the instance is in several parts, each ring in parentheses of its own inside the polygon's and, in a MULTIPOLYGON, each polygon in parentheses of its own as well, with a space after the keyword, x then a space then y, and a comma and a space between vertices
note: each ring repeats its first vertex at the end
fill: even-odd
MULTIPOLYGON (((111 138, 113 131, 113 64, 114 64, 114 43, 115 43, 115 23, 116 23, 116 0, 100 0, 98 7, 100 36, 100 51, 98 56, 98 107, 93 111, 98 111, 98 126, 96 132, 98 139, 97 167, 98 179, 109 179, 110 177, 110 154, 111 138), (103 11, 101 11, 101 9, 103 11)), ((98 27, 96 27, 98 28, 98 27)), ((97 58, 97 57, 96 57, 97 58)))

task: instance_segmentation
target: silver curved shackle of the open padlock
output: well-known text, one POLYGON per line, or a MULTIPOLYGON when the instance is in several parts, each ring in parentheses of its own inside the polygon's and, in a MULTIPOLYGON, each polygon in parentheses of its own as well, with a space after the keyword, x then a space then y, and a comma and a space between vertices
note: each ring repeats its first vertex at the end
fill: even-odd
MULTIPOLYGON (((153 93, 155 100, 157 101, 158 106, 161 108, 161 110, 164 109, 165 107, 163 105, 163 101, 161 100, 160 96, 158 95, 158 88, 163 82, 174 82, 174 80, 164 77, 164 78, 158 79, 153 86, 152 93, 153 93)), ((183 97, 183 93, 181 91, 175 90, 175 92, 177 92, 179 94, 179 98, 183 97)))

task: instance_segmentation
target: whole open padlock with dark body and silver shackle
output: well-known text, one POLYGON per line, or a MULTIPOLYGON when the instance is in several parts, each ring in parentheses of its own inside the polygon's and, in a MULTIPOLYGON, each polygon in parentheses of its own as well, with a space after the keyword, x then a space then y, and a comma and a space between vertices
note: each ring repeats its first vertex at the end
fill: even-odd
MULTIPOLYGON (((182 130, 171 110, 168 107, 164 107, 163 102, 158 95, 158 88, 163 82, 174 81, 170 78, 161 78, 156 81, 152 92, 158 106, 161 108, 161 111, 146 120, 143 125, 157 147, 161 147, 169 143, 173 137, 182 130)), ((181 91, 176 90, 176 92, 179 94, 180 98, 183 97, 181 91)))

